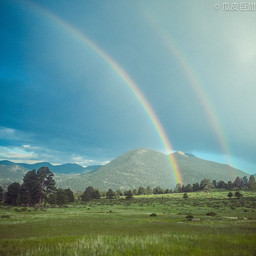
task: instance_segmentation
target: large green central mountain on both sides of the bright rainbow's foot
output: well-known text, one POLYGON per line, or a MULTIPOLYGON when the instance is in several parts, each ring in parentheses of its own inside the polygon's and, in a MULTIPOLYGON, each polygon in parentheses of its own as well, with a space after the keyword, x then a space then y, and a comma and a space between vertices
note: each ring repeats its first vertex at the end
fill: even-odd
MULTIPOLYGON (((249 176, 227 164, 198 159, 196 156, 190 157, 181 151, 174 153, 174 156, 184 185, 200 183, 203 178, 228 182, 234 181, 237 176, 249 176)), ((174 171, 171 171, 169 157, 166 154, 152 149, 134 149, 96 171, 71 178, 63 177, 57 185, 73 191, 85 191, 87 186, 102 191, 112 188, 115 191, 139 188, 139 186, 174 188, 176 183, 174 171)))

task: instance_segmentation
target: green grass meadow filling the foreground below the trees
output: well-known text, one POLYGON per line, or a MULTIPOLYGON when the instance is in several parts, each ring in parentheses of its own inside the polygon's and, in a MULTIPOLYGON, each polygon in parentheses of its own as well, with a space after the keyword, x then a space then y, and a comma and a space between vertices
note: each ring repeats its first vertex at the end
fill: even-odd
POLYGON ((1 206, 0 255, 256 255, 256 192, 242 194, 102 198, 42 210, 1 206))

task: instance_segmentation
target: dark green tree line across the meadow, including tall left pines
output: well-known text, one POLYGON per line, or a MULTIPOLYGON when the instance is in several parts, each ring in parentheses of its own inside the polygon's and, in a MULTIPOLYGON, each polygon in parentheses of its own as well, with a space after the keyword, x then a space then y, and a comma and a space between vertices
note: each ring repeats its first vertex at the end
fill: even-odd
MULTIPOLYGON (((36 171, 28 171, 28 173, 23 177, 23 183, 19 184, 17 182, 11 183, 7 191, 4 191, 4 188, 0 186, 0 202, 4 201, 10 205, 26 205, 26 206, 35 206, 38 204, 40 208, 44 202, 50 205, 63 206, 67 203, 75 201, 74 193, 70 188, 56 188, 55 180, 53 179, 53 172, 50 171, 48 167, 41 167, 36 171)), ((200 183, 196 182, 192 185, 188 183, 186 186, 181 185, 181 183, 176 184, 174 190, 164 189, 161 186, 156 188, 151 188, 147 186, 146 188, 139 186, 138 189, 134 188, 133 190, 127 190, 122 192, 121 190, 112 191, 100 191, 97 188, 89 186, 85 189, 84 192, 77 191, 76 196, 81 201, 91 201, 94 199, 99 199, 101 197, 107 197, 110 200, 112 198, 117 198, 119 196, 126 196, 127 199, 132 198, 133 196, 140 195, 151 195, 151 194, 164 194, 164 193, 187 193, 193 191, 206 191, 207 193, 212 188, 224 188, 226 190, 233 189, 249 189, 256 190, 256 181, 255 176, 251 175, 248 179, 247 176, 237 177, 235 181, 210 181, 210 179, 204 178, 200 183)))

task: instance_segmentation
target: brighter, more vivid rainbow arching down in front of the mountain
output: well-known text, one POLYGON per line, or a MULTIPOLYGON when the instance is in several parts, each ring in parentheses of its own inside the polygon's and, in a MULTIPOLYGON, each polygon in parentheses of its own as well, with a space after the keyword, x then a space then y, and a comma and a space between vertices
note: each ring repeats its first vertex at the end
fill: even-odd
POLYGON ((146 97, 143 95, 142 91, 139 90, 139 87, 132 80, 132 78, 129 77, 129 75, 121 68, 121 66, 116 61, 114 61, 110 57, 110 55, 107 55, 105 51, 103 51, 99 46, 97 46, 94 42, 92 42, 89 38, 87 38, 87 36, 85 36, 84 33, 79 31, 77 28, 71 26, 70 23, 64 21, 62 18, 58 16, 55 16, 50 11, 43 8, 43 6, 39 6, 38 4, 32 3, 30 1, 26 1, 26 0, 22 0, 22 2, 23 4, 26 4, 26 6, 30 7, 32 10, 36 10, 38 11, 38 13, 43 14, 43 16, 48 18, 49 21, 52 21, 55 24, 55 26, 59 26, 66 33, 73 36, 76 40, 79 40, 80 42, 84 43, 86 46, 89 46, 92 50, 95 51, 95 53, 97 53, 97 55, 100 55, 100 57, 112 67, 112 69, 119 75, 120 78, 122 78, 122 80, 129 86, 129 88, 132 90, 134 95, 137 97, 140 104, 146 111, 146 114, 148 115, 152 124, 154 125, 154 128, 156 129, 156 132, 159 138, 161 139, 161 143, 164 145, 167 155, 169 156, 169 161, 171 163, 171 168, 174 171, 174 177, 176 179, 176 183, 182 184, 183 181, 181 178, 181 173, 178 169, 178 164, 176 162, 174 154, 169 154, 171 151, 173 151, 173 149, 166 135, 166 132, 164 131, 164 127, 161 125, 159 118, 156 116, 156 113, 152 109, 148 100, 146 100, 146 97))

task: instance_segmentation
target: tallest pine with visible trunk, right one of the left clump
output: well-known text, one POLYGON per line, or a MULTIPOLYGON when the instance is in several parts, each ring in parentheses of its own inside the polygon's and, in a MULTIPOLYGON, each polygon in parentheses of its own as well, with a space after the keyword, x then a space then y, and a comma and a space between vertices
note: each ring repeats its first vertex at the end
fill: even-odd
POLYGON ((38 207, 41 207, 43 198, 47 201, 50 193, 55 191, 55 181, 53 179, 53 172, 46 166, 42 166, 37 171, 38 183, 39 183, 39 203, 38 207))

